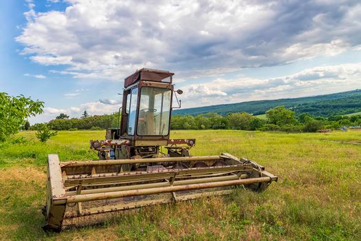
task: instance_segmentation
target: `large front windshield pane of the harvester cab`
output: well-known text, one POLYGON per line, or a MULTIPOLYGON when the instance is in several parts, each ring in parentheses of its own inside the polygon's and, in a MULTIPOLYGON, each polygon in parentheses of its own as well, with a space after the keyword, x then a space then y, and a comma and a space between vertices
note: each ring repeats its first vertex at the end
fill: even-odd
POLYGON ((166 136, 171 114, 171 90, 142 87, 138 115, 138 136, 166 136))

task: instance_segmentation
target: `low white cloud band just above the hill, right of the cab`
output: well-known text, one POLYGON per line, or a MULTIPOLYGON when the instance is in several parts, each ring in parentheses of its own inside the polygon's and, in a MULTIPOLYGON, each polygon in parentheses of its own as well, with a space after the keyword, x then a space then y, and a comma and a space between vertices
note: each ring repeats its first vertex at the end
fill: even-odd
POLYGON ((186 107, 270 98, 292 98, 361 87, 361 63, 313 67, 278 78, 217 78, 184 89, 186 107))

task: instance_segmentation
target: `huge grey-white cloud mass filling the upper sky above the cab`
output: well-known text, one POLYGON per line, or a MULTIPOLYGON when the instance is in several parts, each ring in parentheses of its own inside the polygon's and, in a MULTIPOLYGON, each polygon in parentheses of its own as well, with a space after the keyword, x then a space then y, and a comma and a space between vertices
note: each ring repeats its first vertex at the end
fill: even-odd
POLYGON ((360 48, 360 1, 67 3, 27 12, 17 41, 32 61, 76 78, 122 80, 140 67, 210 76, 360 48))

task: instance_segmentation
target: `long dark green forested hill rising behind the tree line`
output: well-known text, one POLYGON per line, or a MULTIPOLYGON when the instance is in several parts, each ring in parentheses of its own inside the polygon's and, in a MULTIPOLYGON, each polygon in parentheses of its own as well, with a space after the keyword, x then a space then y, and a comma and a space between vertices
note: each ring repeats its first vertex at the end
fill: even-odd
POLYGON ((173 113, 178 115, 197 115, 217 112, 224 116, 232 112, 248 112, 256 116, 265 114, 268 109, 279 105, 284 105, 294 110, 296 114, 305 112, 314 116, 351 114, 361 112, 361 90, 301 98, 280 98, 268 101, 248 101, 234 104, 177 109, 173 113))

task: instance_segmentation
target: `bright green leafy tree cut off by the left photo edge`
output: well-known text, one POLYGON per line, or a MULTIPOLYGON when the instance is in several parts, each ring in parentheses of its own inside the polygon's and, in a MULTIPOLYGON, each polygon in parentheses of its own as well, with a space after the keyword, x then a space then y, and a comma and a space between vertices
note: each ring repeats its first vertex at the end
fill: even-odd
POLYGON ((43 101, 32 101, 30 97, 9 96, 0 92, 0 141, 6 140, 25 125, 26 118, 43 112, 43 101))

